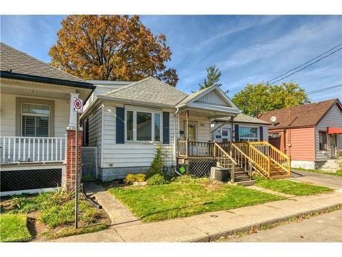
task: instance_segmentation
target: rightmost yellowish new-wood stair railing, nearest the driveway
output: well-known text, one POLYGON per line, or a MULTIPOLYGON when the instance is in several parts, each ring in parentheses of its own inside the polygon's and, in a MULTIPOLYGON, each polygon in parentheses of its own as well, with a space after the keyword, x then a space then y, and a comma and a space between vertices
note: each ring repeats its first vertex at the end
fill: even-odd
POLYGON ((250 142, 249 144, 252 147, 259 149, 259 151, 267 154, 271 160, 271 164, 273 164, 275 167, 279 167, 282 171, 285 171, 287 175, 291 175, 290 156, 287 156, 267 141, 250 142))

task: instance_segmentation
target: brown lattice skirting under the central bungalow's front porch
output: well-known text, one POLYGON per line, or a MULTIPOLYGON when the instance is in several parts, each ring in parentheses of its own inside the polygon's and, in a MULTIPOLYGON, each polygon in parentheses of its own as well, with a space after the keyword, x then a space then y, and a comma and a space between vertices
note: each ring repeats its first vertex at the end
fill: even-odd
POLYGON ((211 167, 216 166, 216 160, 213 158, 178 158, 178 166, 185 167, 188 175, 195 177, 209 177, 211 167))

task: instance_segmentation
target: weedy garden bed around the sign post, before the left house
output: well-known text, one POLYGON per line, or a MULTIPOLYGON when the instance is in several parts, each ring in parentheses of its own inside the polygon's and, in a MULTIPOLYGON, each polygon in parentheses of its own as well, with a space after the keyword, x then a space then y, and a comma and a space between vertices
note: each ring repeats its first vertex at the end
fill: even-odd
MULTIPOLYGON (((75 199, 72 193, 56 191, 38 195, 18 195, 1 204, 1 219, 6 215, 13 217, 26 217, 34 212, 36 222, 41 232, 36 238, 57 238, 71 234, 84 234, 107 228, 109 219, 103 211, 91 206, 82 195, 79 196, 79 228, 73 228, 75 223, 75 199)), ((14 219, 14 218, 13 218, 14 219)), ((13 222, 11 222, 13 223, 13 222)), ((26 223, 25 223, 26 225, 26 223)), ((5 230, 11 234, 16 233, 16 226, 8 226, 5 230)), ((1 228, 2 233, 2 228, 1 228)))

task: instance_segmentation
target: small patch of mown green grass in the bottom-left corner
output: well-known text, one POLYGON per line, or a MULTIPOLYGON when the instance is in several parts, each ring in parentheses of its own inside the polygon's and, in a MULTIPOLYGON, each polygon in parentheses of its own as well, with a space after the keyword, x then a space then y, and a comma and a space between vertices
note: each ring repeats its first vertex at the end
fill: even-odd
POLYGON ((27 215, 0 215, 0 241, 25 242, 31 239, 27 230, 27 215))

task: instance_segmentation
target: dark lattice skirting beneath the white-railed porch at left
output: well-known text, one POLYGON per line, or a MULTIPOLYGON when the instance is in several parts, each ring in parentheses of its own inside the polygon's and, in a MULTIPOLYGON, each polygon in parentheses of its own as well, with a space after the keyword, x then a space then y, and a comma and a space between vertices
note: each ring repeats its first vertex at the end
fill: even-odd
POLYGON ((1 171, 0 176, 1 192, 62 186, 62 169, 1 171))

